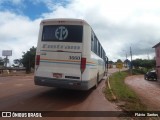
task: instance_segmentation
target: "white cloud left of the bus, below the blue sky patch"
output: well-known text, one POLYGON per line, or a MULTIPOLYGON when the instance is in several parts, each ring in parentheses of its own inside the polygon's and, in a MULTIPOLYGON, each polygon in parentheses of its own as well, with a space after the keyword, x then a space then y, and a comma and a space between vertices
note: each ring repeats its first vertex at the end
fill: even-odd
POLYGON ((37 44, 40 19, 31 21, 11 12, 0 12, 0 16, 0 51, 12 50, 11 60, 21 58, 22 52, 37 44))

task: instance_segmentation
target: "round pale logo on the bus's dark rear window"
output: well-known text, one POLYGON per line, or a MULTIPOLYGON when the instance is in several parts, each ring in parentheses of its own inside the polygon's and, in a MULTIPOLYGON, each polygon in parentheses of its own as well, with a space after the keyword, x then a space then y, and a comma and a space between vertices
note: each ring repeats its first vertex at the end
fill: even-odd
POLYGON ((58 27, 56 29, 56 31, 55 31, 55 37, 58 40, 64 40, 64 39, 67 38, 67 36, 68 36, 68 30, 64 26, 60 26, 60 27, 58 27))

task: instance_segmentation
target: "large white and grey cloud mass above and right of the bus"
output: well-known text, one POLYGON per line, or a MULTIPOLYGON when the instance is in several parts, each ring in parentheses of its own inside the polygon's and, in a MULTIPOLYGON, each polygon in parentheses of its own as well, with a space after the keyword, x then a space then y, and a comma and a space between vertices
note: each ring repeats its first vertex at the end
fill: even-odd
POLYGON ((146 53, 153 55, 152 46, 160 41, 159 3, 159 0, 72 0, 65 7, 54 6, 43 17, 85 19, 109 58, 120 57, 124 49, 129 55, 130 46, 136 58, 146 53))

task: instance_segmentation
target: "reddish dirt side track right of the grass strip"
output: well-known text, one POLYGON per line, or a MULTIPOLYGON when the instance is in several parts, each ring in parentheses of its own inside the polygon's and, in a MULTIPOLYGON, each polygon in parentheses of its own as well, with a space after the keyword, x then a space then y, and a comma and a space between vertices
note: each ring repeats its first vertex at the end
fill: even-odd
POLYGON ((160 111, 160 83, 148 81, 143 75, 127 77, 125 80, 149 110, 160 111))

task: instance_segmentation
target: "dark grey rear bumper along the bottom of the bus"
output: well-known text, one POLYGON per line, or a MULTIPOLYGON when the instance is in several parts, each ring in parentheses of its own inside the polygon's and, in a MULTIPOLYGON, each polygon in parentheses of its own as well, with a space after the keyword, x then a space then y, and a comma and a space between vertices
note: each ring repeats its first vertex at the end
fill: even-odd
POLYGON ((56 87, 56 88, 66 88, 75 90, 89 90, 94 86, 93 80, 70 80, 70 79, 55 79, 46 77, 34 77, 35 85, 56 87))

